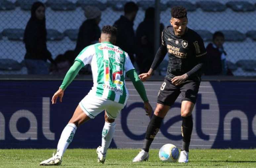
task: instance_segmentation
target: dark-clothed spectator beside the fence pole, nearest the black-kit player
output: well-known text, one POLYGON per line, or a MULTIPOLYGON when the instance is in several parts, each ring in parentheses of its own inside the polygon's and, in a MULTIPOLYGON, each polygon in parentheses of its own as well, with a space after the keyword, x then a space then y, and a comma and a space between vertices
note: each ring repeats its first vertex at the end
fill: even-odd
MULTIPOLYGON (((136 44, 140 49, 136 52, 136 62, 140 74, 148 72, 154 60, 154 16, 155 9, 149 7, 145 12, 144 21, 139 24, 136 30, 136 44)), ((159 26, 159 34, 161 34, 164 25, 160 23, 159 26)))

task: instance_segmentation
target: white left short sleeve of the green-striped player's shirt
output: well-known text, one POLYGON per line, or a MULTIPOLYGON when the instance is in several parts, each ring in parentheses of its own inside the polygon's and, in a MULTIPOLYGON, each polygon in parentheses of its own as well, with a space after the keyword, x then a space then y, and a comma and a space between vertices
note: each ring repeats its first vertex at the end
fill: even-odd
POLYGON ((79 61, 84 65, 90 64, 92 62, 92 58, 95 55, 95 48, 93 45, 90 45, 84 48, 76 57, 75 61, 79 61))

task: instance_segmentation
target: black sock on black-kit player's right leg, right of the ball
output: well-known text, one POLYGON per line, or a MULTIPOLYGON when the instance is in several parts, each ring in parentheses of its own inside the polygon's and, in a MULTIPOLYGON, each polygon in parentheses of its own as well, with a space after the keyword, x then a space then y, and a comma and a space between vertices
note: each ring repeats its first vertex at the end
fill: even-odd
POLYGON ((185 150, 189 152, 189 145, 190 145, 192 130, 193 130, 192 115, 188 117, 182 117, 181 133, 183 137, 183 142, 182 142, 181 150, 185 150))

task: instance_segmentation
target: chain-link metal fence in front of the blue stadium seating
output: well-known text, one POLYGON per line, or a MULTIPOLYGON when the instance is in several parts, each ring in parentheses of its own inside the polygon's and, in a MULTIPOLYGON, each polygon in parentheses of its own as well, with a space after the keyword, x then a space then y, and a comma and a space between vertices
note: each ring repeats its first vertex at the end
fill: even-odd
MULTIPOLYGON (((139 6, 134 30, 144 20, 145 10, 155 1, 133 0, 139 6)), ((25 46, 22 41, 30 8, 34 0, 0 0, 0 74, 27 74, 24 66, 25 46), (9 60, 6 60, 9 59, 9 60), (10 65, 6 65, 7 62, 10 65)), ((119 0, 42 0, 46 5, 47 48, 55 59, 67 50, 73 50, 82 22, 86 20, 84 7, 96 5, 102 11, 103 25, 112 25, 121 15, 127 1, 119 0)), ((188 9, 188 27, 197 31, 205 42, 211 42, 215 31, 223 31, 226 42, 227 64, 236 76, 256 76, 256 0, 168 1, 159 4, 160 22, 169 25, 170 9, 183 5, 188 9)), ((167 59, 167 58, 165 58, 167 59)), ((164 65, 163 65, 164 66, 164 65)), ((161 67, 164 74, 164 67, 161 67)), ((160 68, 160 70, 161 70, 160 68)))

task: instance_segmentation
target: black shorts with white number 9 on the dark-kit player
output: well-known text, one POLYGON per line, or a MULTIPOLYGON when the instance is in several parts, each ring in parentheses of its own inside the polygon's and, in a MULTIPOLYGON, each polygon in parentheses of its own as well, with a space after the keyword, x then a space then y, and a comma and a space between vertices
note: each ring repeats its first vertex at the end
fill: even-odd
POLYGON ((178 86, 164 79, 157 96, 157 103, 171 106, 181 93, 181 101, 190 101, 195 104, 200 82, 186 81, 178 86))

